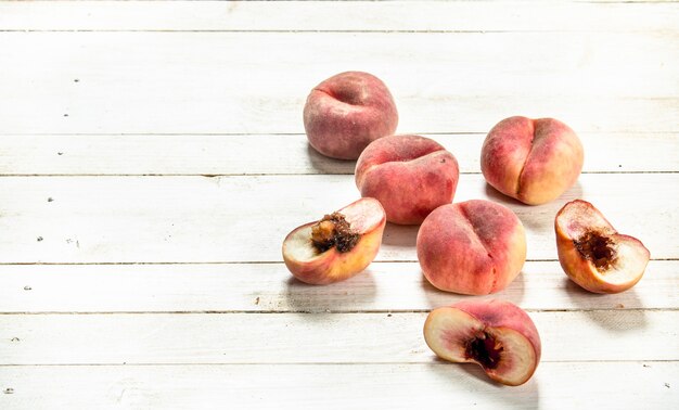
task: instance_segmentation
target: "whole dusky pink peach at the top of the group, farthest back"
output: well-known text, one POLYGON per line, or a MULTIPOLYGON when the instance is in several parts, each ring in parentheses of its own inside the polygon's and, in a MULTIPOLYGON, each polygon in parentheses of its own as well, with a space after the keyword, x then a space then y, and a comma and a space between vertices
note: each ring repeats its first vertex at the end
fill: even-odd
POLYGON ((369 143, 390 136, 398 112, 377 77, 361 72, 337 74, 311 90, 304 106, 309 143, 323 155, 356 159, 369 143))

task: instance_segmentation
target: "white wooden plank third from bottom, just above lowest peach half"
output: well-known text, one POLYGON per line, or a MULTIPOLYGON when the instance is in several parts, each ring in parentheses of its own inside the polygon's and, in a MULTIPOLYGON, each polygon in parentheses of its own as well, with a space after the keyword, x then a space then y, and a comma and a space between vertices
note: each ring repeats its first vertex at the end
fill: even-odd
MULTIPOLYGON (((674 309, 679 261, 652 260, 633 289, 594 295, 558 261, 528 261, 500 293, 529 310, 674 309)), ((282 264, 23 265, 0 268, 0 312, 428 311, 466 296, 437 291, 418 262, 375 262, 346 282, 305 285, 282 264)))

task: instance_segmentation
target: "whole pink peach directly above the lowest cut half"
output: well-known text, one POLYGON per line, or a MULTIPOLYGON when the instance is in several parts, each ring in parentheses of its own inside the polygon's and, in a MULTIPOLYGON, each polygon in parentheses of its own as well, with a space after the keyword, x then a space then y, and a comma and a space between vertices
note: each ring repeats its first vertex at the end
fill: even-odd
POLYGON ((526 234, 516 215, 490 201, 438 207, 418 232, 424 277, 446 292, 487 295, 507 287, 526 260, 526 234))

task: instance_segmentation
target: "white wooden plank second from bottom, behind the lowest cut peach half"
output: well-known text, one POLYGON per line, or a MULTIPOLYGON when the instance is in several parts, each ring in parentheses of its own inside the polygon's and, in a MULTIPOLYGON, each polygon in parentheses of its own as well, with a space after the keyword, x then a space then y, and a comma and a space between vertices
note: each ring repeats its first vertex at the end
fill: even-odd
MULTIPOLYGON (((678 310, 529 312, 542 361, 679 360, 678 310)), ((431 362, 426 313, 2 315, 1 364, 431 362), (390 316, 389 316, 390 315, 390 316)))

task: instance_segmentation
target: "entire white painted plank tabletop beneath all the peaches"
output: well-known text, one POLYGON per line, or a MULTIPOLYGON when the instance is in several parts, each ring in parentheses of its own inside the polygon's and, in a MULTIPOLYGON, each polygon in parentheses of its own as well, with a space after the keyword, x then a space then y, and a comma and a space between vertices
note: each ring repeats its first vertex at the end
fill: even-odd
POLYGON ((0 2, 0 408, 679 408, 676 2, 0 2), (524 222, 505 291, 542 337, 520 387, 439 361, 417 227, 367 272, 292 279, 281 243, 358 197, 308 148, 324 78, 382 78, 398 132, 458 158, 454 201, 524 222), (578 183, 524 206, 486 187, 485 133, 552 116, 578 183), (641 282, 589 294, 559 262, 567 201, 651 249, 641 282))

